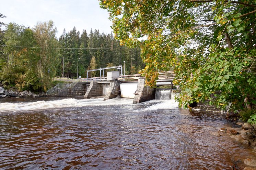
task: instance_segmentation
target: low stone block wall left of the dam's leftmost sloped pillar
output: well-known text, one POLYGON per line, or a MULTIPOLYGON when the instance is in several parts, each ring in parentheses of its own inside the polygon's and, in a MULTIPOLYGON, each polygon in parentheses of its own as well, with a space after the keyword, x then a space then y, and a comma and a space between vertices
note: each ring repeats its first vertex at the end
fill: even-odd
POLYGON ((59 89, 58 96, 79 96, 86 93, 86 85, 78 82, 72 88, 59 89))

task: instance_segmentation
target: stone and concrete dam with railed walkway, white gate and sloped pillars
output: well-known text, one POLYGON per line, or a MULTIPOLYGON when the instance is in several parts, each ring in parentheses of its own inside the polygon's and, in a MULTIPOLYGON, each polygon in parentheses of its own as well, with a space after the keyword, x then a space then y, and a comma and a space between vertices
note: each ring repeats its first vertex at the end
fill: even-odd
MULTIPOLYGON (((171 85, 171 89, 173 89, 174 78, 173 71, 159 72, 156 86, 171 85)), ((144 85, 145 79, 140 74, 120 75, 119 71, 108 71, 106 77, 82 78, 80 82, 69 85, 69 88, 64 88, 64 90, 55 88, 55 90, 51 90, 51 93, 47 93, 59 96, 84 95, 84 98, 105 96, 105 100, 120 96, 133 98, 133 103, 155 99, 156 89, 144 85)), ((179 86, 176 87, 179 88, 179 86)))

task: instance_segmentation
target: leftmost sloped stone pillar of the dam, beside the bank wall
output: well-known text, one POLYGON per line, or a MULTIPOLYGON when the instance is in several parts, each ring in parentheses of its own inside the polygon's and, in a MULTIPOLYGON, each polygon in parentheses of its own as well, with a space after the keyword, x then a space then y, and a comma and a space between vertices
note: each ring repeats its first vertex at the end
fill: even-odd
POLYGON ((91 81, 90 86, 84 95, 84 98, 102 96, 102 94, 102 84, 97 83, 96 81, 91 81))

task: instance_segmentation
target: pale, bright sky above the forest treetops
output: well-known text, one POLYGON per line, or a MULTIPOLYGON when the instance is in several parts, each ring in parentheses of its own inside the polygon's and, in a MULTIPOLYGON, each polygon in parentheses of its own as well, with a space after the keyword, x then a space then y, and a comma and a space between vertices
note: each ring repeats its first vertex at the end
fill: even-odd
MULTIPOLYGON (((101 9, 98 0, 5 0, 1 2, 0 13, 6 18, 1 22, 14 22, 33 28, 38 22, 52 20, 57 28, 59 38, 66 28, 100 30, 110 34, 112 22, 108 19, 107 10, 101 9)), ((4 29, 4 28, 2 28, 4 29)))

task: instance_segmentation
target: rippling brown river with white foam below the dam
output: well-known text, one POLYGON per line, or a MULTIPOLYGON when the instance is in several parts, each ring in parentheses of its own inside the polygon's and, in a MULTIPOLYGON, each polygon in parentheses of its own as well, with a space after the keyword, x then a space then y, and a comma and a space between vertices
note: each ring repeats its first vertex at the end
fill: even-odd
POLYGON ((244 159, 256 157, 229 135, 211 134, 235 126, 221 113, 173 100, 8 100, 0 101, 4 170, 243 170, 244 159))

